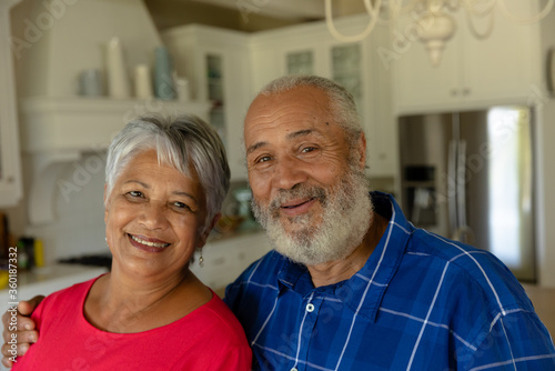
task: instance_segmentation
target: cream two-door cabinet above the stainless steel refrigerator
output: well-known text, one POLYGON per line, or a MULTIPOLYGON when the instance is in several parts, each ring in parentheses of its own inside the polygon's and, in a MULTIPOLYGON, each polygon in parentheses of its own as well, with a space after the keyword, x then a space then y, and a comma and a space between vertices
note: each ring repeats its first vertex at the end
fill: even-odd
MULTIPOLYGON (((506 0, 519 17, 537 11, 535 1, 506 0)), ((389 59, 394 67, 394 107, 397 113, 465 109, 507 102, 527 102, 541 84, 538 24, 519 26, 494 12, 493 33, 476 39, 466 13, 452 14, 457 23, 446 42, 438 67, 433 67, 424 44, 412 32, 412 14, 398 19, 392 32, 389 59)), ((484 21, 477 23, 485 29, 484 21)))

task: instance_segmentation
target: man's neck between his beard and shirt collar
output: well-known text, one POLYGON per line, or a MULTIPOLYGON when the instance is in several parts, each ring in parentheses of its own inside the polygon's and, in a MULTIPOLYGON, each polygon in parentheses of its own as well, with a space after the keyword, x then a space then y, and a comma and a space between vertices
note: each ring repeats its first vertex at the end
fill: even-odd
POLYGON ((374 251, 387 229, 387 220, 374 212, 372 223, 362 243, 345 259, 309 265, 312 283, 315 288, 349 280, 359 272, 374 251))

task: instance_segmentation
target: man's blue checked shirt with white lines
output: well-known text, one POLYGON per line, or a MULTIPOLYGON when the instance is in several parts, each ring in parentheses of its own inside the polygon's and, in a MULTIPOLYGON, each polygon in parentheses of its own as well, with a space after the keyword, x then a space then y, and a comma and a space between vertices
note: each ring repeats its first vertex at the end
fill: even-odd
POLYGON ((390 224, 351 279, 315 289, 272 251, 228 287, 254 370, 555 370, 549 333, 502 262, 371 194, 390 224))

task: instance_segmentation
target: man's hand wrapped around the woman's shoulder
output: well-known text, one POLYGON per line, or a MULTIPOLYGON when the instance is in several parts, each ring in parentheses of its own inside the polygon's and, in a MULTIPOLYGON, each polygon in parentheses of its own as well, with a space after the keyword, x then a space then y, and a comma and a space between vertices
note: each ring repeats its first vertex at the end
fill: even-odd
POLYGON ((39 339, 39 333, 34 330, 34 321, 31 320, 31 313, 43 299, 44 297, 37 295, 29 301, 19 302, 18 315, 16 318, 17 331, 10 331, 10 328, 13 328, 12 313, 8 311, 3 313, 2 337, 4 344, 2 345, 2 364, 7 368, 11 368, 13 365, 10 358, 23 355, 29 347, 39 339), (12 333, 16 333, 16 338, 12 338, 12 333))

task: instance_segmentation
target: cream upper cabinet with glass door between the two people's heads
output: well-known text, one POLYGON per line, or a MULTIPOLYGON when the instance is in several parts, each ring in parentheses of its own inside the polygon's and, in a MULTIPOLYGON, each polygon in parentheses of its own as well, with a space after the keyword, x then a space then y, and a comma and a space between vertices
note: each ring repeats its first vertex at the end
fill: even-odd
POLYGON ((192 24, 161 34, 178 76, 186 78, 191 94, 211 100, 211 124, 228 151, 232 180, 244 180, 243 119, 251 97, 249 36, 213 27, 192 24))

